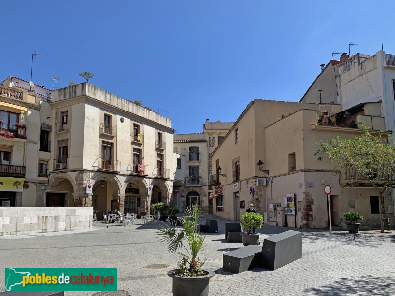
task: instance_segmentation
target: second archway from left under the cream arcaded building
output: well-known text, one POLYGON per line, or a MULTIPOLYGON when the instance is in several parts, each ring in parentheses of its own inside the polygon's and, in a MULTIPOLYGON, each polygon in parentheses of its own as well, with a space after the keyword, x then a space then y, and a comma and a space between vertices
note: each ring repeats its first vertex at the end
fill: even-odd
POLYGON ((113 185, 105 180, 96 181, 93 185, 92 207, 97 213, 97 218, 103 219, 103 213, 118 209, 117 201, 113 201, 113 185))

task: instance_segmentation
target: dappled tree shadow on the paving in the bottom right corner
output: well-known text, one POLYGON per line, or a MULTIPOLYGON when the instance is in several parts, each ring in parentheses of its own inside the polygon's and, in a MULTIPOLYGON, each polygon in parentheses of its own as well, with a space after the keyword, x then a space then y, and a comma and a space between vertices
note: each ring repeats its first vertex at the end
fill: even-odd
MULTIPOLYGON (((395 274, 394 274, 395 275, 395 274)), ((344 296, 344 295, 394 295, 394 275, 386 277, 341 278, 333 283, 318 288, 304 289, 304 293, 313 293, 318 296, 344 296)))

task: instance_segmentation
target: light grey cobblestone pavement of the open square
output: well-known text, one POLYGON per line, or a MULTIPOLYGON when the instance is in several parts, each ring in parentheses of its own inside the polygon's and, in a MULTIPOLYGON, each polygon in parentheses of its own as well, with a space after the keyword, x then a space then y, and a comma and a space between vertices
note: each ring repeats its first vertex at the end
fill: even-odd
MULTIPOLYGON (((304 229, 302 259, 276 271, 256 268, 232 274, 222 271, 222 254, 242 244, 224 240, 225 222, 231 221, 218 220, 218 234, 207 234, 200 256, 208 258, 204 267, 216 272, 210 281, 210 295, 395 295, 394 230, 348 234, 304 229)), ((97 222, 93 231, 0 237, 0 291, 4 291, 4 267, 117 267, 118 289, 132 296, 171 296, 167 271, 176 266, 178 255, 169 254, 158 241, 157 227, 97 222), (151 264, 170 266, 147 267, 151 264)), ((265 225, 258 231, 260 241, 286 230, 289 228, 265 225)))

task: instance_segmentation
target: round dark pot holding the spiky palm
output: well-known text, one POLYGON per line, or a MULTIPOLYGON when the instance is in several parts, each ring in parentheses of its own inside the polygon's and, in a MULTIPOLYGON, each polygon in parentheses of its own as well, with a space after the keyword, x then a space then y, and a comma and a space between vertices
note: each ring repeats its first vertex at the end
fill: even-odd
POLYGON ((210 288, 210 278, 214 271, 204 270, 207 272, 203 276, 180 277, 175 275, 175 269, 167 272, 167 275, 173 278, 173 296, 207 296, 210 288))

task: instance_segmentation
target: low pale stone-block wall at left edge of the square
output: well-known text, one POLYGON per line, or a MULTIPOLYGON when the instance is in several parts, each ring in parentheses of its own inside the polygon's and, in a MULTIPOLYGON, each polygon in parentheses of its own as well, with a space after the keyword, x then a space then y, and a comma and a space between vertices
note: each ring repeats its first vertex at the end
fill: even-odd
POLYGON ((0 235, 92 228, 92 207, 1 207, 0 235))

